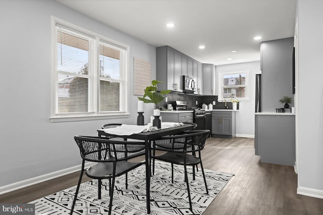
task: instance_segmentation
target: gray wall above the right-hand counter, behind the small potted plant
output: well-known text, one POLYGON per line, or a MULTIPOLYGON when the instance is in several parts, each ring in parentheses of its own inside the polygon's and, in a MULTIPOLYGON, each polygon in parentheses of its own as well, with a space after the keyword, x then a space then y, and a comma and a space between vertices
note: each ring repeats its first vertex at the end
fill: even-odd
MULTIPOLYGON (((261 43, 262 112, 283 108, 279 102, 283 96, 293 98, 293 47, 293 37, 261 43)), ((294 100, 289 106, 294 106, 294 100)))

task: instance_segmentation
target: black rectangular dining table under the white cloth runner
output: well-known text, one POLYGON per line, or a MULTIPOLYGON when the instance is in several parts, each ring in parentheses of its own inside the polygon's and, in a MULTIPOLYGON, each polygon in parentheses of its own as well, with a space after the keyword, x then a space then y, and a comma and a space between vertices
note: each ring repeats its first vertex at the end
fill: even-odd
POLYGON ((151 167, 150 167, 150 152, 151 152, 151 141, 158 139, 167 135, 175 135, 181 133, 183 131, 192 130, 192 124, 184 124, 176 127, 168 127, 162 128, 147 132, 134 133, 131 135, 117 135, 110 134, 109 129, 98 129, 98 136, 114 136, 121 137, 127 139, 137 139, 145 141, 145 165, 146 165, 146 202, 147 202, 147 213, 150 213, 150 175, 151 175, 151 167))

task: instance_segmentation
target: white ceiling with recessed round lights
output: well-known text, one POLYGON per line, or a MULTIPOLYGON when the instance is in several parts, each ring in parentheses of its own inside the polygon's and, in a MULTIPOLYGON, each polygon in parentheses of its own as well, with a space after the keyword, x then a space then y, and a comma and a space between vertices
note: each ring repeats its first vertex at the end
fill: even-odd
POLYGON ((215 65, 260 60, 260 42, 294 35, 296 0, 57 2, 153 46, 169 45, 215 65), (175 27, 167 28, 169 22, 175 27))

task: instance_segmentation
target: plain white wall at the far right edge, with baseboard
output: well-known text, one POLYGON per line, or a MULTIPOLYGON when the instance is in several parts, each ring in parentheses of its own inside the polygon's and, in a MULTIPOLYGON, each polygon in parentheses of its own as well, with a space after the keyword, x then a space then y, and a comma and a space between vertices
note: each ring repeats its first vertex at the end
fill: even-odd
POLYGON ((323 1, 298 1, 298 190, 323 198, 323 1))

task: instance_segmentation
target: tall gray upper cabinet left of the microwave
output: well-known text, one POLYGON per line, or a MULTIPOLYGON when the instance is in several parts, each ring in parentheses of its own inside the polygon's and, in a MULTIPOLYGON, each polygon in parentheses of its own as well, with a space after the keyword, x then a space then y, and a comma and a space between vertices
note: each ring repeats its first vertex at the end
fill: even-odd
POLYGON ((158 90, 183 91, 183 54, 169 46, 156 48, 156 80, 158 90))

